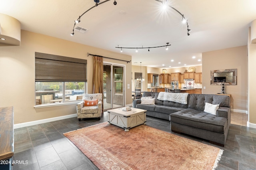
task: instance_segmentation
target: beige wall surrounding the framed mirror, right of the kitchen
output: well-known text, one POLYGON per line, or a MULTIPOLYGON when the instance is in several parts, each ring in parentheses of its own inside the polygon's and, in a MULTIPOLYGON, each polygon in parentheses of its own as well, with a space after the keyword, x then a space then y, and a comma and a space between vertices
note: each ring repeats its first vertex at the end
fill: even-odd
POLYGON ((202 53, 202 93, 220 93, 220 85, 210 85, 210 71, 219 69, 237 69, 237 85, 227 85, 231 94, 234 111, 247 111, 247 47, 233 47, 202 53), (204 89, 205 87, 205 89, 204 89))

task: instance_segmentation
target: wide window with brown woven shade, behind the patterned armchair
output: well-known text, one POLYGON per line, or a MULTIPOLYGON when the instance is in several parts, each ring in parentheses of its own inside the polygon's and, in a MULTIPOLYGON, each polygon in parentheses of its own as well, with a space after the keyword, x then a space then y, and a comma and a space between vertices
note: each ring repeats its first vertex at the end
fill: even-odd
POLYGON ((86 90, 87 60, 35 53, 36 104, 76 101, 86 90))

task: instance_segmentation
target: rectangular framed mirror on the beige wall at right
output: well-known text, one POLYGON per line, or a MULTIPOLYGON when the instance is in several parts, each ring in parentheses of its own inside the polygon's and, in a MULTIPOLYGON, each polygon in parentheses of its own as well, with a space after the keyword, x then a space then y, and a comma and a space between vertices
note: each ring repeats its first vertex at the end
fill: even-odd
POLYGON ((211 70, 211 85, 237 85, 237 69, 211 70))

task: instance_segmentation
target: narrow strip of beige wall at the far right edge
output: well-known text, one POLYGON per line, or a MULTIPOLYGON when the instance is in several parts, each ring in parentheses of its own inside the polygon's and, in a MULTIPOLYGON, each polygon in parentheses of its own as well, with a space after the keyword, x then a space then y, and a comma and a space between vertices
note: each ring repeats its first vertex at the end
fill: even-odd
MULTIPOLYGON (((256 20, 254 20, 256 23, 256 20)), ((256 30, 252 30, 255 32, 256 30)), ((256 63, 256 43, 251 43, 251 29, 248 34, 248 127, 256 128, 256 90, 255 90, 255 63, 256 63), (254 124, 254 125, 251 125, 254 124)))

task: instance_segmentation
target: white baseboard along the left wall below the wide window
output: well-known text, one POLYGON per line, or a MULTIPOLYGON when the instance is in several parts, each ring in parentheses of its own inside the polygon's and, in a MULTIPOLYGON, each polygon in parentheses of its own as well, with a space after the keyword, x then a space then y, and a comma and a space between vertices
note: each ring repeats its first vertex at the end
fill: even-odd
POLYGON ((53 117, 53 118, 49 118, 49 119, 42 119, 42 120, 26 122, 26 123, 19 123, 19 124, 15 124, 13 127, 14 127, 14 129, 22 128, 22 127, 28 127, 28 126, 32 126, 32 125, 38 125, 38 124, 41 124, 41 123, 48 123, 48 122, 53 122, 53 121, 59 121, 59 120, 62 120, 62 119, 68 119, 68 118, 72 118, 72 117, 77 117, 77 114, 60 116, 60 117, 53 117))

